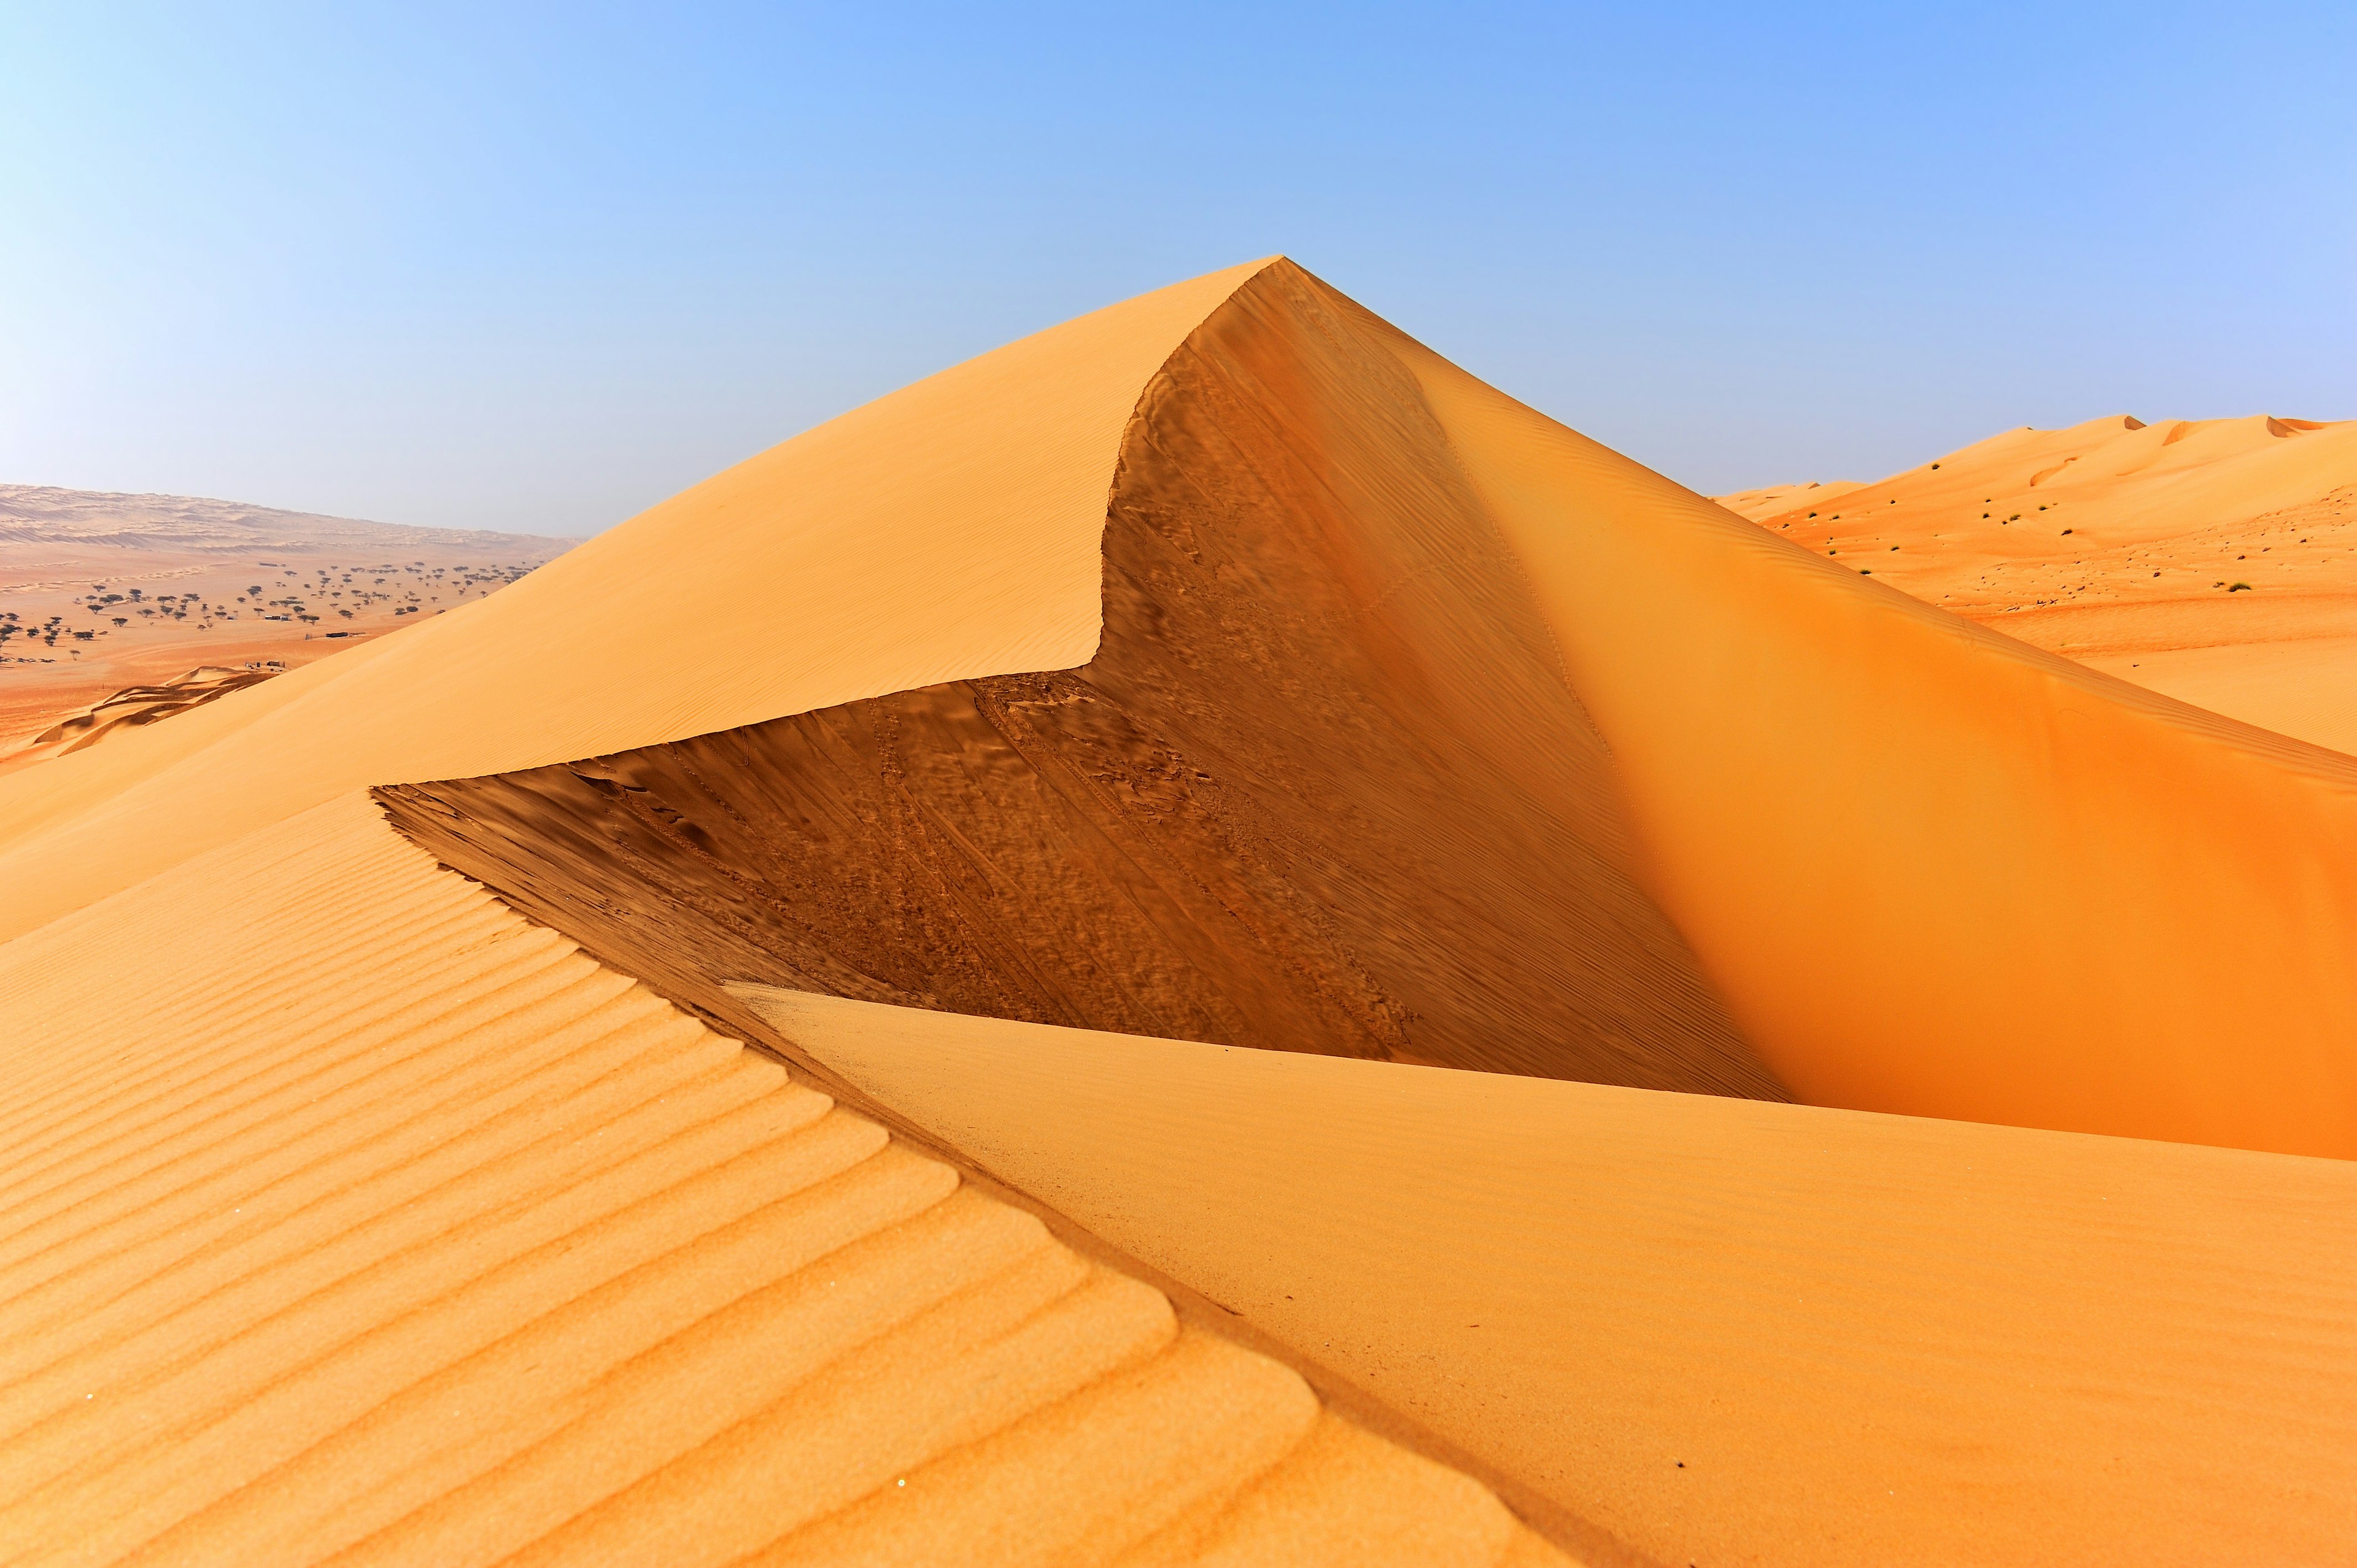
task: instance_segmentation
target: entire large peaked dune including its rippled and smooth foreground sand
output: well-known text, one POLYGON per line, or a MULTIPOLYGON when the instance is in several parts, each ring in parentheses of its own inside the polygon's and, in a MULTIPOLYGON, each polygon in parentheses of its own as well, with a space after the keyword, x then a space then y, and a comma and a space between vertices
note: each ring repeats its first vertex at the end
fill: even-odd
POLYGON ((0 776, 0 1518, 2329 1551, 2357 759, 1768 521, 1254 262, 0 776))

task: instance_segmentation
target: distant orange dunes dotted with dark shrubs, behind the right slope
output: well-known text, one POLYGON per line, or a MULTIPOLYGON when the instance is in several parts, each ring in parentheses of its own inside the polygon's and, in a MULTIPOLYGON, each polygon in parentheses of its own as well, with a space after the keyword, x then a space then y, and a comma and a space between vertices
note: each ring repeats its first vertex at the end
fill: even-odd
POLYGON ((2357 422, 2114 415, 1718 500, 2039 648, 2357 752, 2357 422))

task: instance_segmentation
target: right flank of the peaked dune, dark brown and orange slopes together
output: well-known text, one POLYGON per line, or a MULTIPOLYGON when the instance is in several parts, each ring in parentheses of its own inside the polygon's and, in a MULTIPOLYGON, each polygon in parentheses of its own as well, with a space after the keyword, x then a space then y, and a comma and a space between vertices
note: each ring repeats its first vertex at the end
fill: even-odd
POLYGON ((726 964, 867 1000, 1252 1040, 1216 1012, 1155 1009, 1204 993, 1211 969, 1259 1002, 1270 988, 1254 974, 1308 943, 1228 938, 1207 955, 1216 920, 1136 920, 1124 903, 1155 879, 1131 868, 1176 863, 1162 887, 1193 882, 1252 927, 1259 894, 1221 879, 1254 870, 1249 844, 1266 837, 1299 856, 1261 861, 1268 882, 1320 896, 1310 915, 1339 936, 1320 955, 1341 962, 1266 1004, 1268 1035, 1285 1040, 1261 1042, 1737 1087, 1721 1037, 1685 1023, 1702 1009, 1643 1016, 1643 997, 1673 995, 1655 976, 1678 976, 1690 953, 1742 1047, 1813 1103, 2357 1153, 2357 884, 2322 870, 2357 851, 2357 764, 1982 632, 1739 523, 1289 264, 1233 288, 1141 401, 1105 585, 1108 639, 1077 681, 910 693, 667 757, 443 783, 412 825, 460 823, 431 839, 436 856, 731 1028, 750 1023, 714 1000, 726 964), (1263 453, 1235 431, 1306 434, 1263 453), (1277 455, 1306 474, 1299 488, 1282 488, 1277 455), (1424 549, 1490 571, 1450 585, 1395 545, 1395 516, 1461 519, 1461 542, 1424 549), (1303 582, 1332 608, 1303 599, 1303 582), (1237 601, 1301 601, 1353 639, 1287 641, 1237 601), (1537 660, 1464 641, 1466 625, 1516 615, 1544 627, 1537 660), (1572 698, 1553 731, 1534 719, 1546 665, 1572 698), (1355 691, 1369 696, 1329 707, 1327 693, 1355 691), (1247 707, 1263 693, 1266 710, 1247 707), (1407 729, 1384 750, 1395 714, 1445 719, 1431 740, 1407 729), (1263 733, 1277 743, 1247 740, 1263 733), (1518 755, 1518 736, 1553 771, 1518 755), (1471 790, 1464 769, 1419 773, 1419 747, 1497 757, 1506 783, 1584 835, 1591 863, 1629 865, 1640 896, 1577 856, 1532 854, 1513 790, 1471 790), (731 773, 745 783, 719 783, 731 773), (1270 821, 1228 804, 1252 780, 1263 802, 1296 806, 1261 806, 1282 832, 1233 825, 1270 821), (792 828, 750 823, 733 790, 780 802, 775 821, 792 828), (1138 811, 1091 818, 1058 802, 1091 790, 1138 811), (1091 832, 1110 854, 1075 849, 1091 832), (1483 832, 1487 882, 1471 856, 1419 875, 1419 856, 1483 832), (929 835, 943 844, 933 865, 917 849, 929 835), (1334 839, 1384 870, 1353 865, 1334 839), (799 891, 837 863, 858 872, 816 903, 799 891), (938 891, 969 872, 971 896, 938 891), (1591 929, 1537 920, 1516 879, 1591 929), (1091 882, 1105 889, 1096 905, 1082 903, 1091 882), (1461 908, 1492 917, 1492 957, 1461 908), (825 938, 792 934, 816 910, 825 938), (1494 976, 1541 955, 1541 979, 1577 988, 1577 1004, 1508 997, 1450 1019, 1445 990, 1414 990, 1414 969, 1351 924, 1398 927, 1402 913, 1409 929, 1447 931, 1459 995, 1494 995, 1494 976), (1659 915, 1683 950, 1629 941, 1659 915), (695 955, 646 941, 674 929, 695 931, 695 955), (1101 929, 1148 974, 1082 995, 1051 969, 1091 962, 1101 929), (995 948, 959 946, 976 931, 995 948), (1355 1019, 1332 981, 1351 971, 1369 983, 1355 1019), (1598 974, 1633 976, 1640 1007, 1598 974), (1431 1019, 1440 1049, 1409 1028, 1386 1037, 1376 995, 1431 1019))

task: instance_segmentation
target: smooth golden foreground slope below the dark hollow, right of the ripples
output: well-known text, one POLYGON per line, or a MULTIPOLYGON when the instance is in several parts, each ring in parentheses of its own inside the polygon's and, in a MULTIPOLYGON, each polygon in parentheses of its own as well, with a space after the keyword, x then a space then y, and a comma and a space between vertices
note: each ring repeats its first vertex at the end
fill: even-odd
POLYGON ((983 1170, 1659 1561, 2348 1547, 2348 1162, 740 990, 983 1170))

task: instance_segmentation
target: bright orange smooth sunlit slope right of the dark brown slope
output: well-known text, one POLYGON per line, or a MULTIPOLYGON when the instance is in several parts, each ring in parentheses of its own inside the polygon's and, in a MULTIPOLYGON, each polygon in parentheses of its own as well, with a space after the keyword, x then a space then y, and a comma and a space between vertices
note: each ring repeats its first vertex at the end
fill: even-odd
POLYGON ((1393 342, 1655 896, 1801 1099, 2357 1155, 2357 762, 1930 608, 1393 342))

